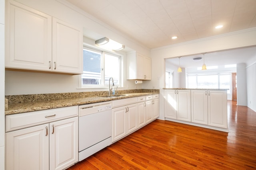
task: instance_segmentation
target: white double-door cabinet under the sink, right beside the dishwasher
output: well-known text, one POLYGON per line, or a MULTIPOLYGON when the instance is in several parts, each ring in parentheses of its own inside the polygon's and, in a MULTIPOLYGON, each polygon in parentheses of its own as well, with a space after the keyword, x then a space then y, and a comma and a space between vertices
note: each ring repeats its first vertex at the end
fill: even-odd
POLYGON ((112 109, 112 142, 121 139, 137 128, 137 104, 112 109))

